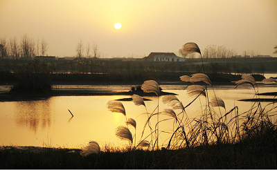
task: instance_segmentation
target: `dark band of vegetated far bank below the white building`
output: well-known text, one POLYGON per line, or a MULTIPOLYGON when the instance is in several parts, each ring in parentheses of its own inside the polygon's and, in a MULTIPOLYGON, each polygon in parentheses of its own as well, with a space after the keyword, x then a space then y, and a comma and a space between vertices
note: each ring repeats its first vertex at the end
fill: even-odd
POLYGON ((230 73, 277 72, 277 59, 187 59, 186 62, 123 62, 122 60, 75 59, 73 61, 39 61, 0 59, 0 81, 17 81, 22 74, 49 75, 59 81, 144 81, 179 80, 204 70, 213 82, 230 82, 230 73), (204 69, 202 68, 202 62, 204 69), (224 76, 222 76, 224 73, 224 76))

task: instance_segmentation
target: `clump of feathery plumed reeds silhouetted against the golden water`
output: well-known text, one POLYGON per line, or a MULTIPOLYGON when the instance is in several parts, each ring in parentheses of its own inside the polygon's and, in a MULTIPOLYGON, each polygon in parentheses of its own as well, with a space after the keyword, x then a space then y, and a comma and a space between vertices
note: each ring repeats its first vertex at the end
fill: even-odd
MULTIPOLYGON (((200 53, 200 50, 196 44, 187 45, 188 46, 185 44, 183 46, 186 53, 200 53)), ((166 140, 168 141, 168 144, 166 144, 167 149, 181 149, 184 147, 190 148, 201 146, 203 144, 234 144, 235 142, 242 140, 242 137, 246 134, 246 132, 251 129, 249 126, 265 124, 265 121, 270 122, 268 118, 269 113, 275 113, 275 106, 273 106, 270 111, 266 111, 265 108, 262 108, 260 102, 255 102, 249 111, 244 113, 238 112, 238 106, 234 106, 230 111, 226 111, 224 101, 220 97, 217 97, 215 91, 213 90, 212 82, 206 74, 195 73, 193 75, 183 75, 180 79, 183 82, 190 83, 190 85, 186 86, 185 90, 188 96, 193 97, 193 99, 186 106, 184 106, 176 96, 166 95, 162 97, 162 102, 164 104, 168 104, 171 108, 166 108, 160 112, 159 84, 154 80, 145 81, 141 86, 141 89, 145 93, 155 93, 158 97, 157 107, 154 111, 152 111, 152 113, 148 113, 148 109, 145 106, 145 102, 142 97, 139 95, 132 96, 134 104, 136 106, 144 106, 146 113, 148 114, 148 120, 146 120, 141 133, 141 142, 139 142, 138 145, 134 142, 133 149, 138 148, 140 144, 145 145, 144 143, 146 139, 150 140, 150 142, 147 143, 152 144, 152 149, 154 149, 154 147, 159 149, 159 133, 166 132, 166 129, 159 130, 159 124, 168 120, 173 120, 173 129, 170 133, 171 137, 166 140), (195 84, 197 82, 206 83, 208 86, 211 86, 211 90, 208 90, 207 85, 201 86, 195 84), (212 91, 212 93, 209 91, 212 91), (197 102, 197 99, 199 99, 200 103, 198 115, 190 118, 188 117, 186 110, 191 106, 191 104, 197 102), (215 110, 216 107, 218 109, 215 110), (220 110, 220 108, 224 108, 224 111, 220 110), (159 115, 166 115, 168 118, 159 120, 159 115), (150 120, 152 120, 154 116, 157 116, 157 123, 152 126, 150 124, 150 120), (150 129, 150 134, 145 134, 146 127, 150 129), (153 131, 152 129, 155 130, 153 131)), ((264 82, 274 81, 271 79, 265 79, 264 82)), ((257 97, 258 85, 251 75, 243 74, 242 79, 236 83, 237 85, 235 88, 242 85, 253 86, 255 90, 254 96, 257 97)), ((267 106, 271 105, 272 104, 269 104, 267 106)), ((124 106, 120 102, 108 102, 108 109, 112 112, 123 113, 126 117, 124 106)), ((126 117, 126 124, 134 126, 136 130, 135 120, 130 118, 127 119, 126 117)), ((166 133, 168 133, 168 131, 166 133)), ((119 129, 116 130, 118 138, 129 140, 130 144, 133 144, 133 136, 131 134, 132 133, 130 133, 128 127, 123 128, 123 126, 120 126, 119 129)))

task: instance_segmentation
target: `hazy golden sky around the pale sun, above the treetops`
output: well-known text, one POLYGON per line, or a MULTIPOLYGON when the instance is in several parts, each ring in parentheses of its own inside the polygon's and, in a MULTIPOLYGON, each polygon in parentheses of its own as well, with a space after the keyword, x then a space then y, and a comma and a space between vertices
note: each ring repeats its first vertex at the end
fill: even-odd
POLYGON ((277 0, 0 0, 0 37, 24 34, 44 38, 46 53, 59 57, 76 55, 80 39, 104 57, 178 55, 187 42, 276 57, 277 0))

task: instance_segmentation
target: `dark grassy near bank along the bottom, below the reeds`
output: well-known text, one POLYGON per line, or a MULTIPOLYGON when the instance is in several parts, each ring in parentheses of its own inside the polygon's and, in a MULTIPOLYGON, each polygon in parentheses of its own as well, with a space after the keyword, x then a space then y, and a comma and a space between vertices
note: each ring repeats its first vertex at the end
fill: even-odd
POLYGON ((276 169, 276 144, 222 144, 192 149, 100 152, 1 147, 1 169, 276 169))

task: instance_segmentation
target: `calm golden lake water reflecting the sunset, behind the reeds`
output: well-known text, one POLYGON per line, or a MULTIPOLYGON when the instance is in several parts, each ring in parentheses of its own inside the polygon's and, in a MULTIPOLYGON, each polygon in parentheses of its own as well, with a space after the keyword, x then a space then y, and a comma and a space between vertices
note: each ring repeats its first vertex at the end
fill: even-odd
MULTIPOLYGON (((71 89, 111 89, 127 91, 131 86, 59 86, 58 88, 71 89)), ((176 93, 184 106, 194 98, 188 97, 184 86, 161 86, 163 91, 176 93)), ((276 85, 262 85, 258 88, 260 93, 277 91, 276 85)), ((239 107, 240 113, 249 110, 252 102, 239 102, 242 99, 251 99, 255 91, 250 86, 234 88, 234 86, 215 86, 214 93, 221 97, 226 105, 226 111, 234 106, 239 107)), ((213 95, 213 91, 209 91, 213 95)), ((127 142, 116 138, 115 129, 125 125, 125 116, 121 113, 112 113, 107 109, 107 102, 131 96, 60 96, 50 97, 47 100, 28 102, 0 102, 0 144, 15 146, 37 147, 69 147, 80 148, 90 140, 95 140, 100 145, 114 144, 115 147, 123 146, 127 142), (71 117, 68 109, 73 113, 71 117)), ((157 106, 157 97, 145 97, 152 101, 145 102, 148 113, 152 113, 157 106)), ((262 98, 272 98, 265 96, 262 98)), ((202 98, 203 104, 205 100, 202 98)), ((127 118, 136 120, 136 142, 142 132, 143 125, 148 119, 143 106, 135 106, 133 102, 122 102, 127 118)), ((266 102, 262 104, 267 104, 266 102)), ((188 116, 193 118, 201 106, 199 100, 193 102, 186 110, 188 116)), ((159 111, 169 106, 159 99, 159 111)), ((221 110, 225 113, 224 110, 221 110)), ((165 117, 161 116, 160 119, 165 117)), ((276 117, 272 117, 276 120, 276 117)), ((163 122, 161 130, 172 129, 172 122, 163 122)), ((134 134, 134 129, 130 128, 134 134)), ((146 131, 145 133, 149 133, 146 131)), ((168 135, 160 136, 160 144, 166 144, 168 135)))

